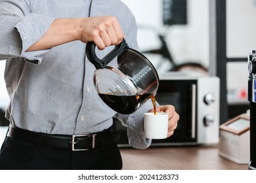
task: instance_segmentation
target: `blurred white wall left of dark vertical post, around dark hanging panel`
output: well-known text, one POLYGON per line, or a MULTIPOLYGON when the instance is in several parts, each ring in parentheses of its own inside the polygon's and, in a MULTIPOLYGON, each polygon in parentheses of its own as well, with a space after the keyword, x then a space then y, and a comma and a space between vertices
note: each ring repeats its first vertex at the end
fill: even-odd
POLYGON ((139 25, 138 41, 140 50, 158 48, 160 42, 154 31, 146 33, 141 25, 165 32, 167 44, 176 63, 196 61, 206 67, 209 65, 209 0, 190 0, 188 2, 188 24, 163 26, 162 1, 160 0, 122 0, 131 8, 139 25))

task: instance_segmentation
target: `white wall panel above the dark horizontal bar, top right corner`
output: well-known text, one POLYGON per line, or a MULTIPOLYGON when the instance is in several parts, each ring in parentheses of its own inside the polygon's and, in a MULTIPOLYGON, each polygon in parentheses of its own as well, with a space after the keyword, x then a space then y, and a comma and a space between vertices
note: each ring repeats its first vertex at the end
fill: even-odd
POLYGON ((247 58, 256 50, 256 1, 226 0, 226 52, 229 58, 247 58))

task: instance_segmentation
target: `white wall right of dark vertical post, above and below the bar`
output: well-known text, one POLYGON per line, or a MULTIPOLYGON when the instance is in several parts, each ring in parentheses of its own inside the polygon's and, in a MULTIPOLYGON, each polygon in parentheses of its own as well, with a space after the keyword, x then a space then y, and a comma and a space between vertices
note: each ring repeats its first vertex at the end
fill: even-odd
MULTIPOLYGON (((226 0, 226 54, 228 58, 247 58, 256 50, 256 1, 226 0)), ((227 88, 229 103, 247 103, 247 61, 227 64, 227 88)))

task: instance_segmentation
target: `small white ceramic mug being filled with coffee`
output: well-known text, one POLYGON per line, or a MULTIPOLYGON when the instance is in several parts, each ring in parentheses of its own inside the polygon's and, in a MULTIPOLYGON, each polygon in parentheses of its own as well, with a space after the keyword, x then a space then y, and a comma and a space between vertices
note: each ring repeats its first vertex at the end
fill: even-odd
POLYGON ((166 139, 168 133, 168 114, 147 112, 144 114, 144 133, 148 139, 166 139))

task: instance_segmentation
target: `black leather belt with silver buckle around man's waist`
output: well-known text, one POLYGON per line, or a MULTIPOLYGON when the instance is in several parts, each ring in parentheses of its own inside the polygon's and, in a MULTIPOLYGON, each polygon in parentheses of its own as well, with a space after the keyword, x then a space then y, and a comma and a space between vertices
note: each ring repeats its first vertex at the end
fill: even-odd
POLYGON ((72 151, 90 150, 115 143, 115 137, 110 128, 89 135, 51 135, 10 126, 7 136, 18 141, 30 142, 33 146, 66 148, 72 151))

